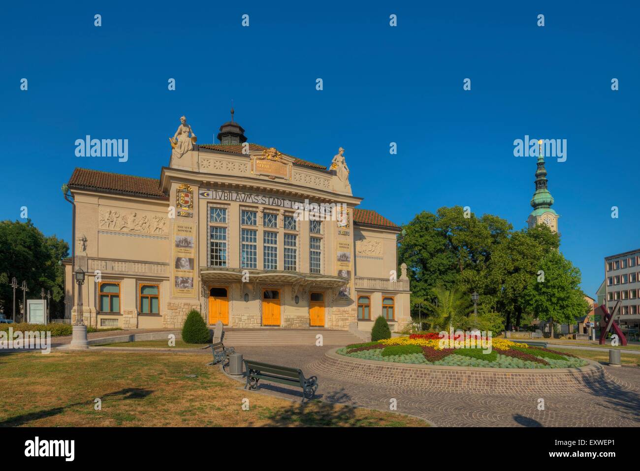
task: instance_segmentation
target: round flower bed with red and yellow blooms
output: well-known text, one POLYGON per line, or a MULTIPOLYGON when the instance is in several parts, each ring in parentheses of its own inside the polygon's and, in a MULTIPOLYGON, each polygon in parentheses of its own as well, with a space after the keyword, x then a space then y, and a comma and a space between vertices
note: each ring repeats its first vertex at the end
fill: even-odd
POLYGON ((529 347, 506 339, 491 339, 490 353, 479 348, 440 348, 438 334, 431 333, 348 345, 336 353, 380 362, 483 368, 575 368, 587 364, 570 353, 529 347))

